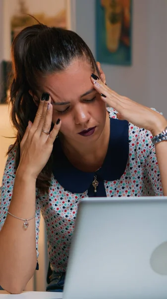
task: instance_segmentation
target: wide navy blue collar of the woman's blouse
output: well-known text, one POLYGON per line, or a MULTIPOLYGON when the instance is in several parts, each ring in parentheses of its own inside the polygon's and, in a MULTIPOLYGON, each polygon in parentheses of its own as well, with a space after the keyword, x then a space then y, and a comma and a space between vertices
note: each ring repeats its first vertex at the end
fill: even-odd
POLYGON ((128 122, 110 119, 109 147, 102 167, 96 172, 100 182, 96 194, 92 186, 95 172, 84 172, 75 168, 65 156, 59 138, 54 143, 53 155, 54 177, 65 190, 71 193, 89 190, 89 196, 106 196, 104 180, 119 179, 126 168, 129 155, 128 122))

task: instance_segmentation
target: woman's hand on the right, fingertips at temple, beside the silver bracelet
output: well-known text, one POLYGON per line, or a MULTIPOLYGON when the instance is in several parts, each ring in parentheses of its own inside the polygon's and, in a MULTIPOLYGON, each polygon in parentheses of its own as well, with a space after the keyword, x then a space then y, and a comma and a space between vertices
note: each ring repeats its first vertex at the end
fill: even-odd
POLYGON ((97 80, 95 80, 95 76, 93 76, 94 78, 91 76, 94 88, 101 95, 101 99, 118 112, 117 118, 119 120, 126 120, 139 128, 149 130, 153 136, 165 130, 167 120, 163 115, 151 108, 120 96, 105 85, 99 77, 96 76, 97 80))

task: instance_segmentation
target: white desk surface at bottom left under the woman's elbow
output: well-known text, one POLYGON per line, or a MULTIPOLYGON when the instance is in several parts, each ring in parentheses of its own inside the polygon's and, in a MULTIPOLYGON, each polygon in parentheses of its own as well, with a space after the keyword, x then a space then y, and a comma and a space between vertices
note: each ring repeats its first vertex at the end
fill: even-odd
POLYGON ((0 291, 0 299, 62 299, 62 293, 56 292, 23 292, 11 295, 5 291, 0 291))

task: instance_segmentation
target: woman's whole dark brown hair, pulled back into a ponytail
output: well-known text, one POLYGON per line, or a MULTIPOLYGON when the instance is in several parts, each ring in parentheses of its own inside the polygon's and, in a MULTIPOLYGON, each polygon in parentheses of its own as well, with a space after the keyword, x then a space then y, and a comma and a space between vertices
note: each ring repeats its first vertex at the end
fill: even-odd
MULTIPOLYGON (((63 71, 73 59, 85 58, 93 71, 98 68, 93 54, 83 39, 75 32, 44 24, 24 28, 12 43, 12 83, 10 87, 11 120, 17 136, 16 169, 20 160, 20 142, 24 136, 28 121, 34 121, 38 107, 29 94, 36 94, 40 76, 63 71)), ((45 91, 43 91, 45 92, 45 91)), ((42 193, 48 191, 52 174, 52 154, 46 166, 39 174, 36 186, 42 193)))

